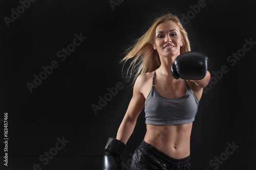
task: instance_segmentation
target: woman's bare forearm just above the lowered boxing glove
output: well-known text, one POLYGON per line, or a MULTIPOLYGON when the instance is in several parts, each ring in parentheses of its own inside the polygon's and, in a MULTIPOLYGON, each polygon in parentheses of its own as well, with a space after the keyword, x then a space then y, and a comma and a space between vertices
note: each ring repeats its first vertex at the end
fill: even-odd
POLYGON ((126 142, 128 141, 128 139, 133 133, 135 125, 136 125, 136 120, 131 121, 127 116, 124 116, 122 123, 118 129, 116 139, 126 144, 126 142))

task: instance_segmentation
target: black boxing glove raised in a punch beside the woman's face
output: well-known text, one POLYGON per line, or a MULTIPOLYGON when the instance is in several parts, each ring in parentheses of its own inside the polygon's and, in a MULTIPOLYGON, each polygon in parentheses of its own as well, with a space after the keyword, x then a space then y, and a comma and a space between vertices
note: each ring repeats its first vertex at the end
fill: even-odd
POLYGON ((198 52, 185 52, 176 57, 172 64, 175 79, 201 80, 207 74, 208 58, 198 52))

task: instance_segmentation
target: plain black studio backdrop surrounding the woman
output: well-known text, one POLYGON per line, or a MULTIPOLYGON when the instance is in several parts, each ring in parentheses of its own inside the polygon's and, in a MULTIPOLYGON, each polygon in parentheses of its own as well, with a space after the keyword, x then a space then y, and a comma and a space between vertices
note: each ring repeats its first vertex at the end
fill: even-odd
MULTIPOLYGON (((100 169, 105 143, 116 137, 132 97, 119 61, 166 11, 183 21, 192 51, 209 59, 191 169, 256 169, 255 6, 248 0, 2 0, 0 169, 100 169)), ((130 167, 144 122, 142 111, 122 169, 130 167)))

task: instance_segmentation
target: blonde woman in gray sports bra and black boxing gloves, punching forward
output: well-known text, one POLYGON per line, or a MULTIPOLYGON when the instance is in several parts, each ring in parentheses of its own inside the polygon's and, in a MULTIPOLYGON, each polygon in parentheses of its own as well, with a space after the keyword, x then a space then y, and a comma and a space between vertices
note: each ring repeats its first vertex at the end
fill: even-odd
POLYGON ((203 88, 210 80, 207 57, 189 51, 180 20, 167 14, 157 18, 123 58, 124 62, 133 58, 131 70, 139 67, 116 139, 109 138, 106 144, 103 169, 118 169, 121 152, 144 107, 147 131, 131 169, 189 169, 191 129, 203 88), (199 63, 206 64, 201 68, 199 63))

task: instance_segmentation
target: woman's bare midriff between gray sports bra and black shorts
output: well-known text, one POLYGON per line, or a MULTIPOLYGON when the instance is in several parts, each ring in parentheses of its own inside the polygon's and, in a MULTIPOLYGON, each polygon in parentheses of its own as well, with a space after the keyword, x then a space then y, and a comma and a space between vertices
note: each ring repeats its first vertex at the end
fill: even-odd
POLYGON ((174 159, 185 158, 190 155, 192 124, 146 125, 144 141, 174 159))

